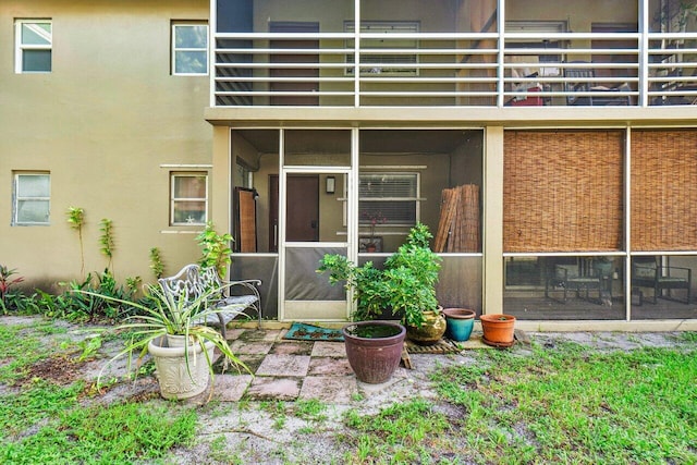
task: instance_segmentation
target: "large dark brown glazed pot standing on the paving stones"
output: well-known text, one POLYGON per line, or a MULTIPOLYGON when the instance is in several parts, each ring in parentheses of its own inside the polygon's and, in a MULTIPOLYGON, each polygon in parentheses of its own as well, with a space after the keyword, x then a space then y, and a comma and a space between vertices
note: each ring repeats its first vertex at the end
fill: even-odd
POLYGON ((348 364, 359 381, 388 381, 402 359, 406 330, 394 321, 357 321, 342 329, 348 364), (369 333, 372 333, 370 335, 369 333))

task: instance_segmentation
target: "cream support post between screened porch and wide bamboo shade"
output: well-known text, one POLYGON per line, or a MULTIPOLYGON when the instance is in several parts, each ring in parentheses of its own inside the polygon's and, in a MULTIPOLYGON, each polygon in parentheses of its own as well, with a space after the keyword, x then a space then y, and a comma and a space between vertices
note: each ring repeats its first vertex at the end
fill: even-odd
POLYGON ((484 314, 503 313, 503 126, 487 126, 484 155, 484 314))

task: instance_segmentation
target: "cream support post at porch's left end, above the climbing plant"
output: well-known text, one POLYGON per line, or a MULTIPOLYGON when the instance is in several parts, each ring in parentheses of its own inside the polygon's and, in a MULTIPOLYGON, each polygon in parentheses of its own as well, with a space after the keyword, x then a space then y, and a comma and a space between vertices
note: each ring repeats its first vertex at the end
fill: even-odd
MULTIPOLYGON (((209 219, 219 233, 232 234, 232 151, 230 127, 212 126, 212 170, 209 180, 209 219)), ((228 270, 229 271, 229 270, 228 270)), ((228 279, 229 277, 225 277, 228 279)))

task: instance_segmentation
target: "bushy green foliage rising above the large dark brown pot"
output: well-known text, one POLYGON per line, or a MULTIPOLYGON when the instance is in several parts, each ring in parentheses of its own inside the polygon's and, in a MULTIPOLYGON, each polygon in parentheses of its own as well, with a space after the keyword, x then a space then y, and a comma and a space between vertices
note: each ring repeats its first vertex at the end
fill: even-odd
POLYGON ((372 261, 358 267, 342 255, 325 255, 317 272, 329 271, 330 284, 344 283, 356 301, 354 320, 371 320, 384 311, 402 317, 406 325, 420 327, 424 311, 436 310, 436 283, 440 257, 429 247, 428 227, 417 223, 404 244, 379 270, 372 261))

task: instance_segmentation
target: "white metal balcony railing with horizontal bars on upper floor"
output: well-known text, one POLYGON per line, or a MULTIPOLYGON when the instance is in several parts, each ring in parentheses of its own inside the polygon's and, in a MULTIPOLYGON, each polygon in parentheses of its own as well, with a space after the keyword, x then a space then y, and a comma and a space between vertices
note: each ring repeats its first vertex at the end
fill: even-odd
POLYGON ((649 107, 697 100, 692 33, 216 34, 213 57, 215 107, 649 107))

